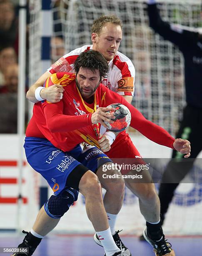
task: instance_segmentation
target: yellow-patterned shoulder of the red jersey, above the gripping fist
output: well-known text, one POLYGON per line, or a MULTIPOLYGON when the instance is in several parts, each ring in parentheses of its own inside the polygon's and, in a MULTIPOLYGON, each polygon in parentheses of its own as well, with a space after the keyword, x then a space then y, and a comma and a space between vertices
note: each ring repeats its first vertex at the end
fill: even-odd
POLYGON ((50 87, 53 84, 61 84, 63 87, 72 83, 76 75, 69 72, 57 72, 48 77, 44 83, 44 87, 50 87))

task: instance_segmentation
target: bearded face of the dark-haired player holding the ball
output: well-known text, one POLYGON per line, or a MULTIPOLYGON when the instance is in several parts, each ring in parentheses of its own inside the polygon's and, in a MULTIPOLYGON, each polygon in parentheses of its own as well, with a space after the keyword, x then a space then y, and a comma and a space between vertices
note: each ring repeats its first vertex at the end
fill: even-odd
POLYGON ((98 70, 92 72, 90 69, 83 69, 82 67, 75 79, 77 88, 84 98, 89 98, 95 93, 100 81, 100 72, 98 70))

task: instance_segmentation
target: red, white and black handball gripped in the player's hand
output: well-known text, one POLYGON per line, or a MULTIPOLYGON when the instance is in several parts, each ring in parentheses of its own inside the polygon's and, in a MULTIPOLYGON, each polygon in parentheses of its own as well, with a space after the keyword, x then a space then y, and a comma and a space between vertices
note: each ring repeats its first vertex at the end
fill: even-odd
POLYGON ((124 131, 128 126, 130 125, 131 121, 131 114, 130 110, 125 106, 120 103, 114 103, 107 108, 115 108, 115 111, 108 111, 108 113, 113 113, 115 116, 115 119, 112 119, 114 123, 108 123, 104 121, 104 123, 107 125, 107 129, 111 130, 115 133, 124 131))

